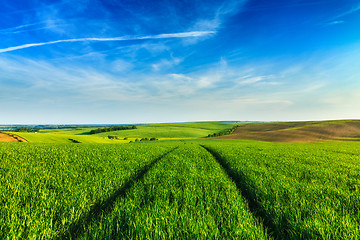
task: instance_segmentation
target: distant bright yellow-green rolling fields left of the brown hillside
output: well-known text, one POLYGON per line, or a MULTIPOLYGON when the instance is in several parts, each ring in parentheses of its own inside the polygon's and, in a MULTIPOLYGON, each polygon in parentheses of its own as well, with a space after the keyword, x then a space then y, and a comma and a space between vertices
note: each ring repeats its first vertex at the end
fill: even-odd
POLYGON ((81 143, 128 143, 141 138, 166 139, 196 139, 209 134, 231 129, 235 123, 203 122, 203 123, 172 123, 138 125, 137 129, 87 134, 94 128, 79 129, 41 129, 37 133, 11 132, 33 143, 71 143, 74 139, 81 143), (109 135, 117 136, 119 140, 108 139, 109 135), (123 140, 128 138, 127 140, 123 140))

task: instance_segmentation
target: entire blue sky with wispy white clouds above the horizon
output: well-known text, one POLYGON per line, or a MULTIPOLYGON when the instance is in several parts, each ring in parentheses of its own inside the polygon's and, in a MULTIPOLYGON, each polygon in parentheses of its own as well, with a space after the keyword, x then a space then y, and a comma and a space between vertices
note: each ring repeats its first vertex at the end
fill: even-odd
POLYGON ((360 1, 4 0, 0 124, 360 118, 360 1))

